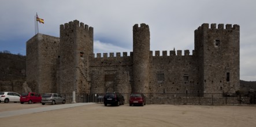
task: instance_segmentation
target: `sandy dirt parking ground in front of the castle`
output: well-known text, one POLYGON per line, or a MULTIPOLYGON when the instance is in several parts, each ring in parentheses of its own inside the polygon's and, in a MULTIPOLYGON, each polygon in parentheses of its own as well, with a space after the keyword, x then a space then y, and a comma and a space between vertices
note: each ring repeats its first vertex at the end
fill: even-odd
MULTIPOLYGON (((47 105, 51 106, 51 105, 47 105)), ((0 103, 1 111, 42 104, 0 103)), ((0 118, 1 126, 256 126, 256 106, 89 104, 42 113, 0 118)))

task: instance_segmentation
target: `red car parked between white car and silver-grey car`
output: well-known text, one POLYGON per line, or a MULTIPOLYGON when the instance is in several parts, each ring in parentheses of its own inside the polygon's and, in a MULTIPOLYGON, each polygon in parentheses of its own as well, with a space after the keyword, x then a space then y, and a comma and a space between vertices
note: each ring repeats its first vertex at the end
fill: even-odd
POLYGON ((20 96, 21 104, 23 104, 24 102, 28 102, 29 104, 36 103, 36 102, 41 103, 41 100, 42 100, 42 96, 40 94, 36 94, 35 92, 25 92, 20 96))

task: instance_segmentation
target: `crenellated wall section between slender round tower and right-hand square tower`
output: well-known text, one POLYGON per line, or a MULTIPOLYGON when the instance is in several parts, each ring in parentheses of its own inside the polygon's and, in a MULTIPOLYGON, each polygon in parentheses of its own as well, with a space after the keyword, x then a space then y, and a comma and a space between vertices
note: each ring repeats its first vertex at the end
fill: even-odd
MULTIPOLYGON (((179 51, 179 50, 178 50, 179 51)), ((195 55, 152 56, 151 79, 152 93, 198 93, 198 66, 195 55)), ((159 54, 156 51, 155 54, 159 54)))

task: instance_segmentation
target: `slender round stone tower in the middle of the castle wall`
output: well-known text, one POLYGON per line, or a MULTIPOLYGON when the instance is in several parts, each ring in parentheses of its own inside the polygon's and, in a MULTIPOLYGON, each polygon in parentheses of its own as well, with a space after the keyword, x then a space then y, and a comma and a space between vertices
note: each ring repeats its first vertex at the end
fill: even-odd
POLYGON ((149 92, 150 78, 149 25, 133 26, 133 80, 132 92, 149 92))

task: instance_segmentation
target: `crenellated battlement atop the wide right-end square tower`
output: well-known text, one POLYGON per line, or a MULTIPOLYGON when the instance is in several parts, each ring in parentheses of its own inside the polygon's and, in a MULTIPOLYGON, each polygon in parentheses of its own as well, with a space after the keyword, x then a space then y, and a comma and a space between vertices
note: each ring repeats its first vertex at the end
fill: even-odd
POLYGON ((210 25, 210 28, 209 28, 209 24, 202 24, 200 27, 198 27, 197 30, 201 30, 201 29, 228 29, 228 30, 236 30, 236 31, 239 31, 240 30, 240 26, 237 25, 237 24, 234 24, 233 27, 232 27, 232 24, 226 24, 225 25, 225 28, 224 28, 224 24, 218 24, 218 27, 216 28, 216 24, 211 24, 210 25))

